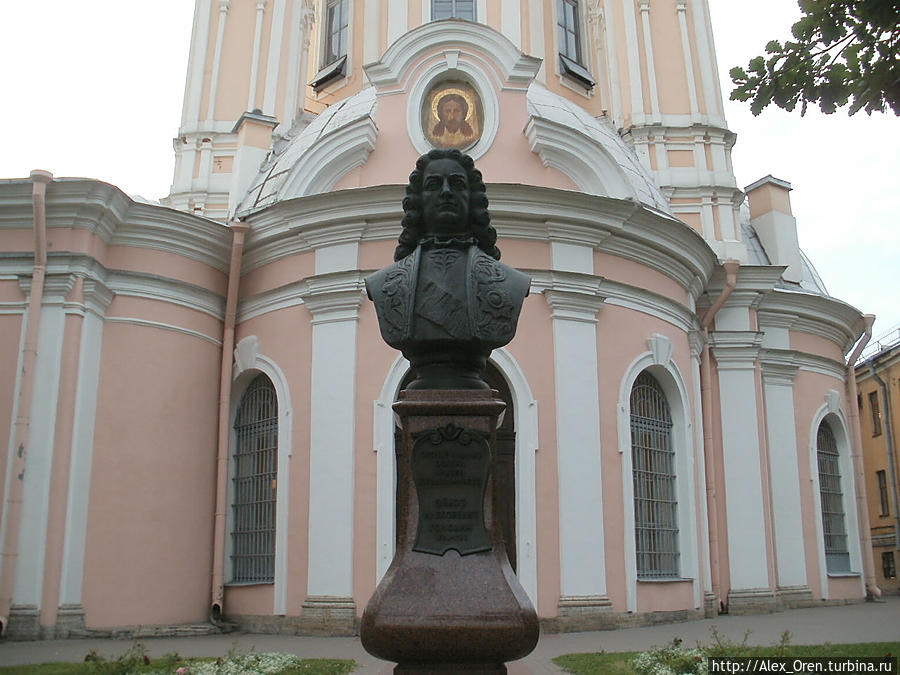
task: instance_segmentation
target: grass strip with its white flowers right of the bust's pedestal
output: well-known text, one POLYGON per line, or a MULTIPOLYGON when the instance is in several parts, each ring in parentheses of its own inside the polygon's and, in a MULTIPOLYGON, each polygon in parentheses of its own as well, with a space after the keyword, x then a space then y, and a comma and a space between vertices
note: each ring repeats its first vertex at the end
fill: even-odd
MULTIPOLYGON (((749 631, 742 642, 731 642, 722 639, 715 628, 712 629, 712 642, 708 645, 696 645, 696 650, 704 659, 710 656, 898 656, 900 642, 866 642, 853 644, 792 645, 788 631, 781 640, 768 647, 747 645, 749 631)), ((648 672, 670 673, 705 673, 705 661, 701 665, 695 659, 685 659, 686 652, 694 650, 682 646, 681 640, 675 639, 664 647, 654 647, 647 652, 597 652, 592 654, 565 654, 553 659, 553 663, 575 675, 642 675, 648 672), (640 660, 638 657, 641 657, 640 660), (648 663, 650 664, 648 666, 648 663), (654 669, 653 666, 657 669, 654 669)))

